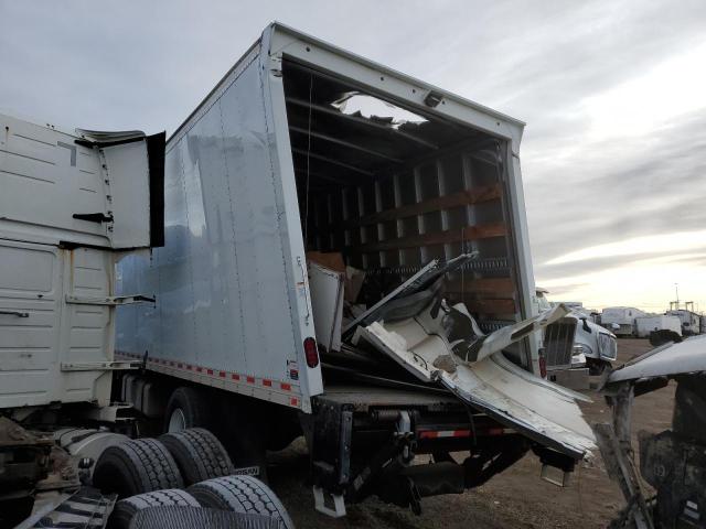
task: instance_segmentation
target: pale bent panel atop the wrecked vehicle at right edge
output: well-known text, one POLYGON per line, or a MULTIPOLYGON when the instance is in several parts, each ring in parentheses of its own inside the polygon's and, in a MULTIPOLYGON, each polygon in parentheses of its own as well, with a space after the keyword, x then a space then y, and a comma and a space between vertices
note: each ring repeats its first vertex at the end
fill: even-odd
POLYGON ((706 371, 706 336, 694 336, 678 344, 657 347, 629 361, 611 373, 607 384, 702 371, 706 371))

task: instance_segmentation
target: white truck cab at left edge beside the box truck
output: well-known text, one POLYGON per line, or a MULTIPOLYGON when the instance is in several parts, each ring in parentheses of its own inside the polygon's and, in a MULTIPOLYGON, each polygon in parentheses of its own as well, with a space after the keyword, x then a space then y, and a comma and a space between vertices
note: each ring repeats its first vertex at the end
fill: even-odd
MULTIPOLYGON (((0 409, 110 400, 115 264, 163 240, 164 133, 0 115, 0 409)), ((135 294, 131 292, 130 294, 135 294)))

